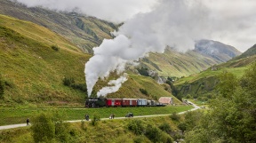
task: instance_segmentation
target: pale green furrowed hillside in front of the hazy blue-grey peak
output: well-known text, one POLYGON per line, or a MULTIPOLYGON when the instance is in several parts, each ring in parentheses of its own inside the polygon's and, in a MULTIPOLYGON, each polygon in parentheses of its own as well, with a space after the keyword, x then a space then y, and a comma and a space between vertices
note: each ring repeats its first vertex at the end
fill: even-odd
POLYGON ((156 70, 159 75, 177 77, 199 73, 220 63, 198 52, 177 52, 171 48, 167 48, 163 54, 151 53, 141 62, 144 67, 156 70))

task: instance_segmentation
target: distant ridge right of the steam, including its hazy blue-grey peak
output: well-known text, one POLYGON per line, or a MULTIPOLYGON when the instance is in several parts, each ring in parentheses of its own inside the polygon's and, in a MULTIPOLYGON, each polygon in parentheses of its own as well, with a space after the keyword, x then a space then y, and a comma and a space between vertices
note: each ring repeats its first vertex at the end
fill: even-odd
POLYGON ((212 40, 200 40, 195 50, 177 52, 167 48, 164 54, 152 53, 141 60, 144 67, 164 76, 187 76, 199 73, 212 65, 220 64, 240 55, 236 48, 212 40))

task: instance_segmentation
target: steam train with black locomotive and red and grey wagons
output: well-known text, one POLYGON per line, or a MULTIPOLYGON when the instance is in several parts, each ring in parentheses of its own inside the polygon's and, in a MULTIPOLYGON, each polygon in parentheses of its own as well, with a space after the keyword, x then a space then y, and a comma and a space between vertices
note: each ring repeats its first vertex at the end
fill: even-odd
POLYGON ((163 103, 148 99, 107 99, 89 98, 85 107, 164 107, 163 103))

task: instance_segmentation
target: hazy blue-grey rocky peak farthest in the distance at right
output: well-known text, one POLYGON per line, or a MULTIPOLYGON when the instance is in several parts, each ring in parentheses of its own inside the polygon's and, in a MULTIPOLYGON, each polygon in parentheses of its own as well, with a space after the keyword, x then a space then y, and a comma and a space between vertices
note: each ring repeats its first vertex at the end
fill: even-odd
POLYGON ((241 54, 241 52, 237 51, 233 46, 212 40, 197 41, 195 51, 210 56, 220 62, 226 62, 241 54))

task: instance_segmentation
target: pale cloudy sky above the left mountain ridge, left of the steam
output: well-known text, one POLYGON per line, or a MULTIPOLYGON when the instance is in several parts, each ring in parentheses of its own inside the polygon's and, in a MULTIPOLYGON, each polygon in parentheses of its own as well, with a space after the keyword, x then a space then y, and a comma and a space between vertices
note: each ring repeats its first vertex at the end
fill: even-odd
POLYGON ((43 6, 57 11, 80 12, 102 20, 123 22, 138 12, 148 12, 157 0, 17 0, 28 7, 43 6))

